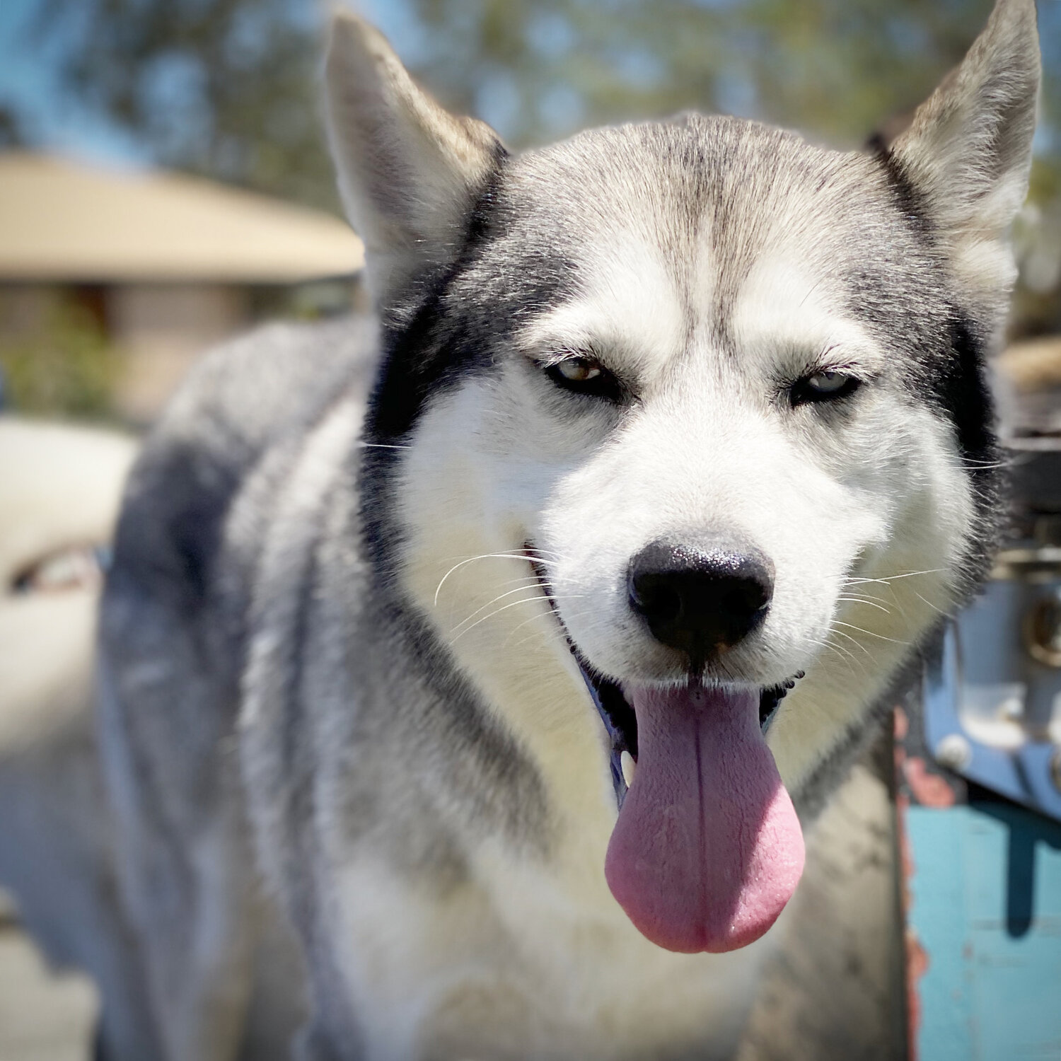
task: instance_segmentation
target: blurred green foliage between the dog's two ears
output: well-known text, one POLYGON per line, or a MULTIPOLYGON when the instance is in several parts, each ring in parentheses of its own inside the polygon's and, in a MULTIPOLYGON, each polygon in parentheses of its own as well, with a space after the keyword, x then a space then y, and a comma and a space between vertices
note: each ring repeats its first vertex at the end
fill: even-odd
POLYGON ((991 0, 411 6, 427 28, 421 73, 466 109, 489 110, 501 93, 502 133, 517 144, 686 107, 740 110, 856 143, 932 90, 964 54, 991 0), (567 114, 551 102, 561 99, 573 104, 567 114))

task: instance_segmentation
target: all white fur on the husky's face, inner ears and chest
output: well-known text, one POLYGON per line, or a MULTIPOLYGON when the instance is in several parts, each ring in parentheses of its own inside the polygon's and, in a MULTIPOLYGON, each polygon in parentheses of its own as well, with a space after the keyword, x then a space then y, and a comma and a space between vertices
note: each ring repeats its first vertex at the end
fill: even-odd
MULTIPOLYGON (((1002 175, 988 187, 969 158, 984 151, 985 129, 1004 107, 976 95, 976 86, 1007 62, 1020 66, 1019 52, 1033 41, 1030 10, 1026 0, 1001 0, 987 44, 959 75, 967 94, 953 106, 941 89, 897 146, 937 211, 940 253, 968 290, 996 302, 1011 279, 1005 228, 1023 196, 1027 138, 1007 145, 1002 175)), ((354 91, 342 84, 350 32, 341 25, 335 37, 333 100, 346 93, 376 114, 382 97, 397 99, 394 131, 382 138, 366 135, 363 121, 352 132, 333 126, 351 218, 370 251, 373 240, 381 244, 383 264, 371 267, 387 311, 398 266, 386 256, 405 253, 407 233, 387 244, 393 203, 364 177, 358 153, 368 166, 397 167, 399 178, 420 170, 408 224, 425 233, 421 260, 438 263, 452 260, 451 225, 482 173, 487 141, 476 128, 460 151, 453 127, 432 133, 437 116, 394 73, 393 57, 380 58, 376 37, 382 88, 363 73, 354 91)), ((359 33, 351 56, 368 39, 359 33)), ((1028 64, 1026 73, 1030 84, 1028 64)), ((1007 83, 1012 100, 1004 103, 1025 121, 1019 81, 1007 83)), ((333 122, 337 112, 333 103, 333 122)), ((640 1057, 703 1037, 725 1054, 769 946, 767 936, 724 956, 666 954, 609 894, 602 866, 615 804, 607 742, 521 555, 525 543, 540 552, 567 634, 620 682, 683 680, 680 662, 629 608, 632 556, 660 538, 695 544, 714 534, 765 553, 776 568, 769 613, 714 677, 760 686, 807 672, 769 734, 793 788, 864 724, 910 640, 951 606, 961 580, 974 499, 953 430, 908 400, 894 351, 837 309, 835 276, 794 224, 806 205, 775 208, 776 230, 736 293, 733 358, 714 331, 724 269, 711 220, 678 238, 689 245, 679 286, 653 196, 632 179, 615 181, 615 199, 594 215, 597 230, 573 251, 577 294, 518 330, 492 373, 430 402, 400 458, 402 586, 529 755, 556 839, 544 860, 484 841, 472 883, 446 901, 350 855, 336 890, 341 964, 364 1002, 372 1058, 459 1057, 465 1043, 497 1057, 640 1057), (534 362, 587 348, 638 380, 636 407, 561 410, 566 399, 546 400, 529 382, 534 362), (870 379, 850 421, 779 398, 776 381, 808 364, 870 379), (510 1041, 490 1038, 501 1026, 510 1041)))

